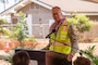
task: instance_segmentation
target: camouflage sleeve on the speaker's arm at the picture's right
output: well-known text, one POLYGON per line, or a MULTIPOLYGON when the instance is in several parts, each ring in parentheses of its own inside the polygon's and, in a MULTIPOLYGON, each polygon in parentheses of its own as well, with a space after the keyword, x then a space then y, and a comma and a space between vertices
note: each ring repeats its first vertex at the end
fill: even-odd
POLYGON ((78 43, 77 43, 78 38, 77 38, 76 32, 73 28, 73 25, 70 25, 68 35, 71 39, 71 46, 72 46, 71 53, 75 54, 78 50, 78 43))

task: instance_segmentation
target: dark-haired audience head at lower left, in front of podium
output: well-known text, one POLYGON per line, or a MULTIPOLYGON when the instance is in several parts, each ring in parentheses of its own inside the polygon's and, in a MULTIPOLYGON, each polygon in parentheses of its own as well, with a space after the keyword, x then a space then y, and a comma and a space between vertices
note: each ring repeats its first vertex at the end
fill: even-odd
POLYGON ((28 65, 29 63, 29 55, 26 51, 17 51, 13 55, 13 65, 28 65))

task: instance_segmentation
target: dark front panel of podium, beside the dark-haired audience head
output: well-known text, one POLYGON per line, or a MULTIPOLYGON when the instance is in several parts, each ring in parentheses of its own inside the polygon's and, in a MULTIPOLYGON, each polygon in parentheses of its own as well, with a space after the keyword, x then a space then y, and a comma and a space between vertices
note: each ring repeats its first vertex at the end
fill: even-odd
MULTIPOLYGON (((15 52, 21 51, 21 49, 16 49, 15 52)), ((46 52, 45 51, 39 51, 39 50, 24 50, 27 51, 30 57, 30 61, 34 64, 37 65, 46 65, 46 52)), ((34 65, 32 63, 32 65, 34 65)))

